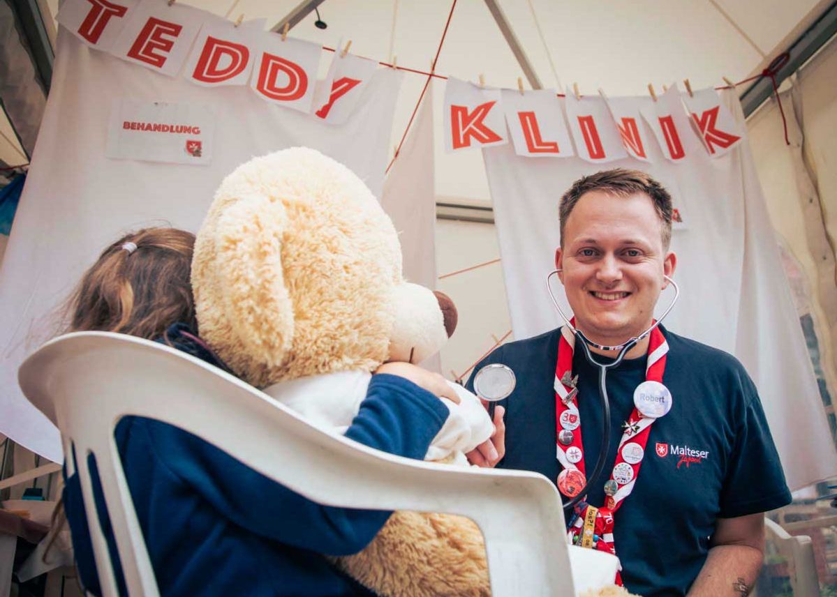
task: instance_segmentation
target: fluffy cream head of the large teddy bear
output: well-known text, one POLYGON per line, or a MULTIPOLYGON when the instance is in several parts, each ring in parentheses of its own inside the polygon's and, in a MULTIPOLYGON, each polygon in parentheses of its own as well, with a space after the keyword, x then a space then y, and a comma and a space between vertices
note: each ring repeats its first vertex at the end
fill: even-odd
POLYGON ((254 158, 224 179, 198 232, 199 332, 257 387, 418 363, 456 313, 401 267, 393 222, 346 166, 300 147, 254 158))

